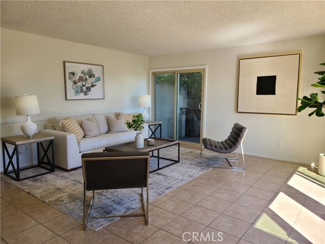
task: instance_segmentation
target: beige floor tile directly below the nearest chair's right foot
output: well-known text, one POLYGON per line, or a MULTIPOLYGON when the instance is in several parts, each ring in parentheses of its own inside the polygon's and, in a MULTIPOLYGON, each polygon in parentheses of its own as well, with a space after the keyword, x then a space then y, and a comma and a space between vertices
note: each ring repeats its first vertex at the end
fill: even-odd
POLYGON ((132 243, 140 243, 159 229, 144 222, 134 219, 114 230, 113 233, 132 243))

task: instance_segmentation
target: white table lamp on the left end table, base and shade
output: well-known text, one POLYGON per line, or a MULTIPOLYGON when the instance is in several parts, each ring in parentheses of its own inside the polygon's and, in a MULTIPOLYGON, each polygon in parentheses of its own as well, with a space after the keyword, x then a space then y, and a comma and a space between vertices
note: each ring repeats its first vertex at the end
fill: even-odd
POLYGON ((37 130, 37 125, 30 120, 30 114, 41 113, 36 95, 16 96, 16 115, 27 115, 26 122, 21 125, 20 130, 26 137, 32 137, 37 130))

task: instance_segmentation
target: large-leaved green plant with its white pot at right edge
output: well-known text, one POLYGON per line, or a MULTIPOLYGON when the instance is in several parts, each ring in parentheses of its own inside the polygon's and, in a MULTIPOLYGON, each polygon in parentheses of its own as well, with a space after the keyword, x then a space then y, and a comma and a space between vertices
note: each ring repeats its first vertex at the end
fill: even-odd
MULTIPOLYGON (((321 63, 319 65, 325 66, 325 63, 321 63)), ((313 87, 325 88, 325 71, 316 71, 315 74, 320 75, 316 83, 311 84, 313 87)), ((325 90, 321 91, 322 94, 325 94, 325 90)), ((297 111, 301 112, 306 108, 314 108, 314 110, 308 114, 308 116, 312 116, 315 114, 317 117, 324 116, 324 112, 322 111, 325 108, 325 99, 323 102, 319 101, 319 97, 317 93, 310 94, 310 97, 304 96, 303 98, 298 98, 301 101, 300 106, 297 111)), ((318 161, 318 174, 325 176, 325 154, 319 154, 318 161)))

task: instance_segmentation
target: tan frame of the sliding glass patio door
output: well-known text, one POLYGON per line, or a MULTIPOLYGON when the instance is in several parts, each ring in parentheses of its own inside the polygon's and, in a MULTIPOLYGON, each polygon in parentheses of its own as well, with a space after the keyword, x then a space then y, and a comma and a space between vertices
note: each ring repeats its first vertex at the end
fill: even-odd
MULTIPOLYGON (((189 72, 200 72, 202 71, 202 110, 201 110, 201 131, 200 131, 200 147, 202 146, 202 138, 204 138, 205 135, 205 120, 206 120, 206 83, 207 83, 207 66, 191 66, 191 67, 178 67, 178 68, 165 68, 165 69, 151 69, 149 71, 149 94, 151 95, 152 98, 152 107, 151 107, 151 119, 155 120, 155 93, 154 93, 154 75, 155 74, 170 74, 170 73, 175 73, 175 86, 178 84, 178 73, 189 73, 189 72)), ((178 94, 177 94, 177 89, 175 89, 175 98, 178 100, 178 94)), ((177 102, 175 101, 175 109, 174 109, 174 115, 175 115, 175 122, 176 119, 178 118, 177 116, 177 102)), ((176 129, 176 125, 175 125, 176 129)), ((174 130, 174 138, 176 138, 176 133, 177 130, 174 130)), ((193 145, 196 143, 192 142, 186 142, 186 141, 180 141, 181 144, 188 144, 188 145, 193 145)))

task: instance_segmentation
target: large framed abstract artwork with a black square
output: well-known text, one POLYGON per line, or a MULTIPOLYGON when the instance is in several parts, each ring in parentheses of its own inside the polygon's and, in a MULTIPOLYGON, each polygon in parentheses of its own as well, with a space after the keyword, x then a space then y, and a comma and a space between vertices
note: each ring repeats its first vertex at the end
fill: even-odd
POLYGON ((238 113, 297 115, 301 53, 239 58, 238 113))

